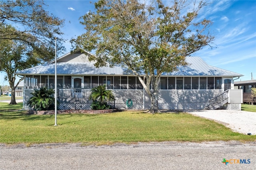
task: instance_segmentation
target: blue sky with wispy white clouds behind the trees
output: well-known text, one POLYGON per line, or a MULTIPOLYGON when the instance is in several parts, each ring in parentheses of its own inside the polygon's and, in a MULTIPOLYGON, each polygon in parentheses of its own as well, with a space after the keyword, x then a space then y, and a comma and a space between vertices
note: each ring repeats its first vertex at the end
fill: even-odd
MULTIPOLYGON (((63 38, 70 51, 70 38, 85 32, 79 17, 89 10, 94 11, 92 0, 46 0, 50 13, 65 19, 63 38)), ((165 1, 168 2, 168 1, 165 1)), ((210 1, 208 1, 210 2, 210 1)), ((244 75, 236 81, 256 79, 256 1, 213 0, 200 13, 200 18, 213 22, 211 32, 215 36, 215 48, 204 49, 192 54, 204 59, 209 65, 244 75)), ((1 73, 1 77, 3 74, 1 73)), ((0 79, 0 85, 8 85, 0 79)))

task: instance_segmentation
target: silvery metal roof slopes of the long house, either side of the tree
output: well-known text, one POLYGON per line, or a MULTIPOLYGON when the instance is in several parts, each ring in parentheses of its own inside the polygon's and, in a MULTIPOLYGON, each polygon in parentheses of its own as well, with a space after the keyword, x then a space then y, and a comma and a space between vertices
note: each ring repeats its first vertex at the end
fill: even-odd
MULTIPOLYGON (((200 57, 186 57, 189 65, 178 67, 178 71, 172 73, 162 73, 171 76, 228 76, 241 77, 243 75, 213 67, 204 62, 200 57)), ((36 67, 18 71, 18 75, 54 75, 55 64, 43 64, 36 67)), ((57 63, 57 74, 59 75, 132 75, 132 72, 120 66, 99 67, 94 63, 57 63)))

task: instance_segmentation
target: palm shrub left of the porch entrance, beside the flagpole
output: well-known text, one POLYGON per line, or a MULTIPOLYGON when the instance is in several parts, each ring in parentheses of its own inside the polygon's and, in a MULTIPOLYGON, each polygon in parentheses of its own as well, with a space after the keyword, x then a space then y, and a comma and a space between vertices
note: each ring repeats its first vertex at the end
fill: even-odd
POLYGON ((28 100, 28 106, 38 111, 54 110, 54 89, 41 87, 39 90, 34 90, 33 96, 28 100))

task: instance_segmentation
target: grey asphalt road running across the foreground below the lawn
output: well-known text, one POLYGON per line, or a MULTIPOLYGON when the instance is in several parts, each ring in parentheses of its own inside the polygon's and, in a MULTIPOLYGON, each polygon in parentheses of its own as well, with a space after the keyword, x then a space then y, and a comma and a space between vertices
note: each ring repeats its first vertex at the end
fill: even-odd
POLYGON ((81 144, 0 144, 3 170, 255 170, 256 142, 150 142, 81 144), (225 165, 223 159, 230 163, 225 165), (242 163, 237 164, 237 162, 242 163), (245 161, 244 161, 245 160, 245 161))

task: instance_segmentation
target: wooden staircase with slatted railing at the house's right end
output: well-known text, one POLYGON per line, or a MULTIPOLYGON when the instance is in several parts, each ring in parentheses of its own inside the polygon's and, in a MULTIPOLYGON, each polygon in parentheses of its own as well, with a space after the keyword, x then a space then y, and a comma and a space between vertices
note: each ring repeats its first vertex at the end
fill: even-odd
POLYGON ((223 106, 224 104, 228 103, 228 93, 229 89, 224 91, 222 94, 218 95, 217 97, 214 97, 209 101, 209 106, 206 107, 205 109, 209 110, 215 110, 218 109, 219 107, 223 106))

